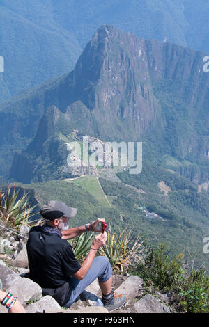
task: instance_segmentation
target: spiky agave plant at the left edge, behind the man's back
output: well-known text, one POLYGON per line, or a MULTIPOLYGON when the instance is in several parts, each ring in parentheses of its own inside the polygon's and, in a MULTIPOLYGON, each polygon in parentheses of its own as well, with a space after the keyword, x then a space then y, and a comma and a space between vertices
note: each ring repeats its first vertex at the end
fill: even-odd
POLYGON ((35 215, 32 212, 36 205, 31 207, 27 198, 28 193, 17 200, 19 192, 20 189, 16 191, 15 186, 11 184, 5 191, 3 191, 3 185, 0 189, 0 218, 14 228, 18 228, 22 224, 29 224, 29 218, 35 215))

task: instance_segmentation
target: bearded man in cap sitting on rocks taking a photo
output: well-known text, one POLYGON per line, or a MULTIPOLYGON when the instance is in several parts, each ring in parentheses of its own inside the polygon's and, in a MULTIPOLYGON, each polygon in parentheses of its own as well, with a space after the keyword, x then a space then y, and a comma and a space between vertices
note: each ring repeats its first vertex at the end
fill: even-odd
POLYGON ((100 246, 107 241, 107 233, 101 233, 97 219, 77 228, 68 228, 68 220, 77 209, 60 201, 50 201, 42 206, 40 214, 45 225, 31 228, 27 242, 29 277, 42 287, 43 296, 50 295, 59 305, 69 308, 79 294, 98 278, 102 302, 109 312, 121 308, 125 296, 115 297, 111 290, 112 271, 107 257, 95 257, 100 246), (86 259, 82 264, 76 260, 68 239, 83 232, 100 232, 95 236, 86 259))

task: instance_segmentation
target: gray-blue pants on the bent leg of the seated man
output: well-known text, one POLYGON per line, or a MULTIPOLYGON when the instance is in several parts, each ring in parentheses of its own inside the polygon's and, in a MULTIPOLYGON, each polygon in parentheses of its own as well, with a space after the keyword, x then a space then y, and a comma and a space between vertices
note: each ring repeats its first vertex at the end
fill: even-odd
POLYGON ((76 278, 70 278, 71 296, 68 303, 65 304, 66 308, 69 308, 72 303, 75 302, 79 294, 81 294, 84 289, 90 285, 96 278, 100 282, 107 282, 111 278, 111 265, 107 257, 95 257, 93 263, 91 264, 88 273, 82 280, 77 280, 76 278))

